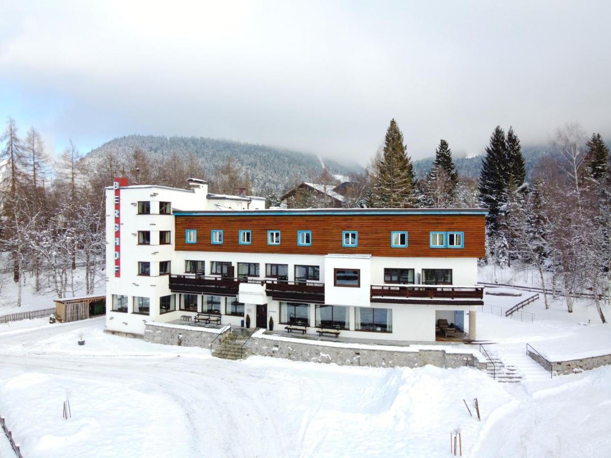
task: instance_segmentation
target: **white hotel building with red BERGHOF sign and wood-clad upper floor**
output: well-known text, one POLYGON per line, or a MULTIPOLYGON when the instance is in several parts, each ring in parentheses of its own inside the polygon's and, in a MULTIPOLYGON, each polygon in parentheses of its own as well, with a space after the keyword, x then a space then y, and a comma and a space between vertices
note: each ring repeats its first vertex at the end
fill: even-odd
POLYGON ((108 330, 199 312, 364 341, 433 342, 442 320, 475 338, 485 209, 263 209, 204 181, 118 181, 106 191, 108 330))

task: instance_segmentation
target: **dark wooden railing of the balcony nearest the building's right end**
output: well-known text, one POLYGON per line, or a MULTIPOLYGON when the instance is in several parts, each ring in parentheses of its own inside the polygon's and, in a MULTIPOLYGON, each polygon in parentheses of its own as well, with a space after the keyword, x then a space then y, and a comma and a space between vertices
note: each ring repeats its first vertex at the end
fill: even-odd
POLYGON ((456 285, 371 285, 371 297, 392 299, 483 299, 484 288, 456 285))

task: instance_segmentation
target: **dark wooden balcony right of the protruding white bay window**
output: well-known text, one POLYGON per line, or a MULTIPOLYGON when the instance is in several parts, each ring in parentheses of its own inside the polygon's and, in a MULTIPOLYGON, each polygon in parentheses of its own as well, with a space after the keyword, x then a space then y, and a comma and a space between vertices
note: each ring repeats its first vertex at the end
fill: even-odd
POLYGON ((431 299, 443 302, 483 304, 484 288, 457 285, 371 285, 371 302, 411 302, 426 304, 431 299))

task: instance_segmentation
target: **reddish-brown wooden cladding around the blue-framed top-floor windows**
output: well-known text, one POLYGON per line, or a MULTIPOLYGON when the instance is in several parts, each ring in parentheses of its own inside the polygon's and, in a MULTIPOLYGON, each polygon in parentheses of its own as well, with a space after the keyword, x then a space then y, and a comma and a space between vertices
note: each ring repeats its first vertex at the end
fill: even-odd
POLYGON ((249 215, 175 216, 176 250, 208 252, 284 253, 327 255, 329 253, 482 258, 485 256, 483 215, 249 215), (197 230, 197 242, 188 244, 185 231, 197 230), (211 230, 223 230, 223 244, 211 244, 211 230), (238 244, 240 230, 252 231, 250 245, 238 244), (280 231, 280 245, 268 245, 268 230, 280 231), (312 231, 312 246, 297 245, 297 231, 312 231), (358 231, 357 247, 342 247, 342 232, 358 231), (391 231, 408 231, 408 247, 392 248, 391 231), (430 231, 464 232, 463 249, 429 246, 430 231))

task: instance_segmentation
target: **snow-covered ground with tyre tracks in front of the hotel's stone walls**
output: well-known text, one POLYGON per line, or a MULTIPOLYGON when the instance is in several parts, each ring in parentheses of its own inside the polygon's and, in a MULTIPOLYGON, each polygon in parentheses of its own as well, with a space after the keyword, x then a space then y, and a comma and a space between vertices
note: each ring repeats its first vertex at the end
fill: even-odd
POLYGON ((0 325, 0 413, 27 457, 445 457, 456 427, 466 457, 611 449, 611 367, 509 385, 472 368, 219 360, 107 335, 103 317, 29 324, 0 325), (481 422, 463 403, 476 397, 481 422))

